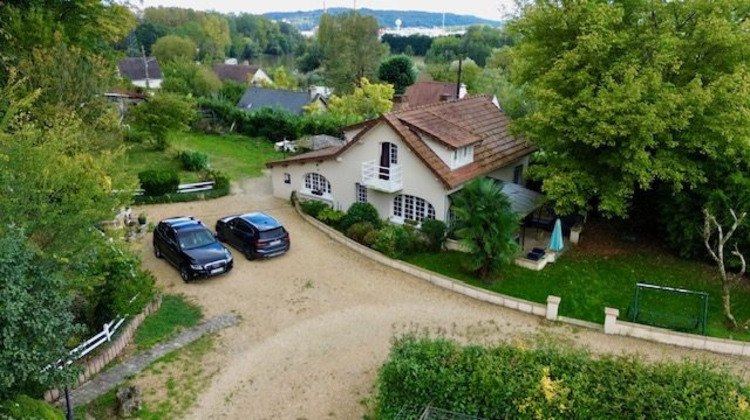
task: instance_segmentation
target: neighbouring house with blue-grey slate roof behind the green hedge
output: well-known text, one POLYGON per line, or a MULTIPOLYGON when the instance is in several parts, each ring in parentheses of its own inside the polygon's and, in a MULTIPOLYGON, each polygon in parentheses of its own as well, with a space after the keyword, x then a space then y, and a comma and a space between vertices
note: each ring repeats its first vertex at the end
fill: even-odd
POLYGON ((254 111, 261 108, 277 108, 290 114, 302 115, 304 107, 317 104, 320 111, 328 109, 326 102, 320 95, 293 90, 266 89, 260 86, 250 86, 237 103, 238 108, 254 111))

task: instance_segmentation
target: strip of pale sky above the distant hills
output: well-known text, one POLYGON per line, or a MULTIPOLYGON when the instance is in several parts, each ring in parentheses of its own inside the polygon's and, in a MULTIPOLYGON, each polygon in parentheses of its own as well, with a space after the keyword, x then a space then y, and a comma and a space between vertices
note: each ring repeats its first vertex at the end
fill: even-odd
MULTIPOLYGON (((142 7, 168 6, 222 13, 261 14, 322 9, 323 2, 324 0, 143 0, 142 7)), ((325 0, 328 7, 353 7, 354 2, 355 0, 325 0)), ((447 12, 502 20, 511 11, 513 0, 356 0, 356 4, 357 8, 447 12)))

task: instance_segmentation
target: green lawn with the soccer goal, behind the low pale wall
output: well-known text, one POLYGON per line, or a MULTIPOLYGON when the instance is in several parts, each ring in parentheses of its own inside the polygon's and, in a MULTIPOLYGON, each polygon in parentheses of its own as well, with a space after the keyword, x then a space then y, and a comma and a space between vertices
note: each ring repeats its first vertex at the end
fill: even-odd
MULTIPOLYGON (((637 282, 708 292, 707 333, 715 337, 750 340, 747 331, 733 332, 725 327, 721 311, 721 284, 715 269, 706 264, 664 254, 592 256, 571 251, 542 271, 511 266, 495 283, 486 284, 461 268, 462 258, 463 254, 459 252, 443 252, 412 255, 404 259, 469 284, 533 302, 546 303, 548 295, 560 296, 560 315, 600 324, 604 322, 605 306, 618 308, 620 318, 626 317, 637 282)), ((739 322, 749 319, 750 306, 746 303, 750 301, 750 291, 735 289, 732 297, 735 318, 739 322)), ((649 294, 646 298, 649 300, 644 300, 645 309, 661 313, 696 316, 700 305, 695 298, 666 293, 649 294)))

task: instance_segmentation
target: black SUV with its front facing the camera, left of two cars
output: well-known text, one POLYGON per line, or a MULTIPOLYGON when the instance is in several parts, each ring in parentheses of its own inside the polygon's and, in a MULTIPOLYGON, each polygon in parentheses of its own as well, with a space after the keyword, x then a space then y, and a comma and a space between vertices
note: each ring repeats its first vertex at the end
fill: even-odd
POLYGON ((159 222, 154 230, 154 255, 180 270, 185 282, 232 269, 232 254, 200 220, 173 217, 159 222))

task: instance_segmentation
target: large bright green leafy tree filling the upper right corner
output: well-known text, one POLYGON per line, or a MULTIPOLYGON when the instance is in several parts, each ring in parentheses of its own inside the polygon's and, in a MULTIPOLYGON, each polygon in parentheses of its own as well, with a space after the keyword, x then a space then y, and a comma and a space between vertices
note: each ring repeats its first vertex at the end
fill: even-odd
MULTIPOLYGON (((626 215, 634 192, 706 182, 750 141, 745 0, 536 0, 510 29, 513 81, 562 214, 626 215)), ((699 216, 700 217, 700 216, 699 216)))

